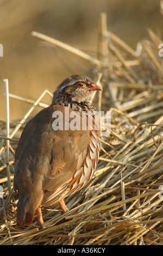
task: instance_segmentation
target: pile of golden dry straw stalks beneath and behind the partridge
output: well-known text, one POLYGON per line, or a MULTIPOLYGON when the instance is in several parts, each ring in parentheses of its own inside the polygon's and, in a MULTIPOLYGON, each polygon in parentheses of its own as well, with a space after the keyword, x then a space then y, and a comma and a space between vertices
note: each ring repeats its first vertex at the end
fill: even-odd
MULTIPOLYGON (((160 38, 149 31, 149 40, 137 44, 136 51, 108 32, 106 15, 99 20, 98 58, 48 36, 33 35, 55 45, 55 51, 76 54, 96 76, 103 93, 92 99, 99 111, 111 111, 110 135, 102 137, 96 174, 82 191, 66 198, 70 212, 59 207, 42 209, 45 228, 16 225, 17 193, 12 190, 14 150, 24 124, 45 90, 29 112, 17 123, 10 121, 9 160, 5 122, 1 121, 0 245, 162 245, 163 244, 163 62, 158 55, 160 38), (57 47, 56 47, 57 46, 57 47), (23 125, 22 125, 23 124, 23 125), (2 137, 3 136, 3 137, 2 137), (7 182, 9 161, 11 191, 7 182), (162 186, 162 187, 161 187, 162 186), (79 205, 78 205, 79 204, 79 205)), ((67 55, 68 56, 68 55, 67 55)), ((73 55, 74 56, 74 55, 73 55)), ((70 59, 69 59, 70 61, 70 59)), ((85 65, 86 66, 86 65, 85 65)))

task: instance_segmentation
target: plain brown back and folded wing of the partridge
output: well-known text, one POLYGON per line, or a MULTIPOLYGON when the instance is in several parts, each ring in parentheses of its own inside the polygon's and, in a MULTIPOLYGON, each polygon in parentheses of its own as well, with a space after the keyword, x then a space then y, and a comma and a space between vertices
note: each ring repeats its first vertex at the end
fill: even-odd
MULTIPOLYGON (((41 204, 43 190, 50 191, 43 200, 52 196, 51 203, 55 200, 55 191, 60 188, 66 190, 72 175, 82 166, 87 153, 90 132, 54 131, 54 111, 62 113, 58 117, 60 123, 65 120, 64 107, 43 109, 28 122, 16 149, 14 189, 19 191, 17 209, 20 214, 18 212, 17 216, 23 216, 20 217, 20 222, 27 212, 34 212, 41 204)), ((68 111, 71 112, 70 109, 68 111)))

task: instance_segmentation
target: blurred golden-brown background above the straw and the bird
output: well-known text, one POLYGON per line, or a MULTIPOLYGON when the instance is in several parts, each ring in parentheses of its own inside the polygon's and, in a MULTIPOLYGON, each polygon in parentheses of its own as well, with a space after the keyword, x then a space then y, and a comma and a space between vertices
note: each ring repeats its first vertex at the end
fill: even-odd
MULTIPOLYGON (((31 32, 97 57, 98 21, 103 11, 108 30, 134 49, 137 42, 148 38, 148 28, 162 34, 160 0, 0 0, 0 119, 5 119, 3 79, 9 80, 9 93, 36 100, 44 89, 53 92, 62 80, 78 72, 76 66, 66 68, 63 51, 60 58, 54 47, 40 43, 31 32)), ((41 102, 49 104, 51 97, 41 102)), ((22 118, 29 107, 10 99, 10 120, 22 118)))

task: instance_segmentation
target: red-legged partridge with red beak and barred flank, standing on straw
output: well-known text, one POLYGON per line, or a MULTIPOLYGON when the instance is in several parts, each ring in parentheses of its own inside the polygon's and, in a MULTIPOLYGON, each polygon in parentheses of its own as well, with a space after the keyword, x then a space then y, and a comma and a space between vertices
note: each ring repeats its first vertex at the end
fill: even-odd
POLYGON ((66 78, 53 93, 52 104, 24 127, 15 153, 18 225, 32 224, 35 211, 37 224, 43 225, 41 206, 59 204, 63 212, 68 211, 65 197, 92 178, 98 163, 101 131, 95 108, 87 99, 95 90, 101 87, 89 77, 66 78), (54 129, 56 121, 61 129, 54 129), (75 125, 71 129, 71 123, 80 124, 80 129, 75 125))

